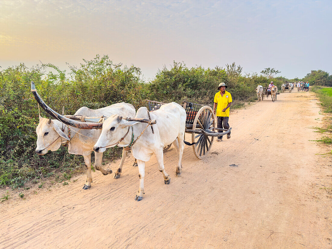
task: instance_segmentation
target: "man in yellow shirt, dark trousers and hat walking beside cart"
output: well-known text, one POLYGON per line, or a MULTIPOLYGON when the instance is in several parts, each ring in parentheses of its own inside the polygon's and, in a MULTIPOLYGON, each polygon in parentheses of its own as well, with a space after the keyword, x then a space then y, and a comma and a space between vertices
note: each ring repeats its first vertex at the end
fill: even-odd
MULTIPOLYGON (((229 107, 232 104, 232 95, 226 91, 227 85, 220 83, 218 86, 219 92, 214 95, 213 112, 217 115, 218 128, 229 129, 228 118, 229 118, 229 107), (217 108, 217 110, 215 110, 217 108)), ((220 132, 220 131, 218 131, 220 132)), ((227 139, 230 138, 230 132, 227 134, 227 139)), ((222 141, 222 136, 218 136, 217 142, 222 141)))

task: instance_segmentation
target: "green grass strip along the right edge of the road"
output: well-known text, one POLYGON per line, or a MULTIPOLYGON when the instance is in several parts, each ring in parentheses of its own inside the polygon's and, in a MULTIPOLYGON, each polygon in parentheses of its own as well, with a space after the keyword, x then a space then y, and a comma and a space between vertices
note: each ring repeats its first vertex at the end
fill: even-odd
MULTIPOLYGON (((329 115, 332 113, 332 87, 313 86, 311 88, 311 91, 316 93, 317 97, 320 100, 320 105, 322 106, 323 111, 325 113, 328 113, 328 115, 324 119, 324 121, 327 123, 326 127, 316 127, 316 132, 320 132, 324 134, 324 136, 315 141, 324 143, 326 145, 332 145, 332 117, 331 115, 329 115)), ((327 154, 332 155, 332 150, 327 154)))

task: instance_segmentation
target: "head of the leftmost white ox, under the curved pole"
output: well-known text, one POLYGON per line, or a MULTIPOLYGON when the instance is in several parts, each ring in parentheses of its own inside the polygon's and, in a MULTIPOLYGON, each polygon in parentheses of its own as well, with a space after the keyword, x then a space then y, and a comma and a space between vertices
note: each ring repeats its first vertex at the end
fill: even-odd
POLYGON ((61 146, 61 140, 70 140, 60 127, 51 119, 39 117, 36 128, 38 155, 45 155, 49 150, 55 151, 61 146))

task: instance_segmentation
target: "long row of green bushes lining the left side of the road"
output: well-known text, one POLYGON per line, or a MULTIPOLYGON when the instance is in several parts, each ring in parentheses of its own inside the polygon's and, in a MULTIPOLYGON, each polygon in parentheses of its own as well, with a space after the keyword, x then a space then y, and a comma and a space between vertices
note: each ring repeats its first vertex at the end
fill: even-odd
MULTIPOLYGON (((137 110, 146 106, 145 99, 212 104, 220 82, 227 83, 234 109, 257 99, 257 85, 265 87, 272 80, 280 89, 281 84, 292 81, 276 77, 278 73, 274 68, 265 68, 260 74, 243 74, 242 67, 235 63, 204 68, 174 62, 145 82, 139 67, 116 64, 107 55, 83 60, 79 67, 69 66, 68 72, 53 64, 32 68, 20 64, 3 69, 0 71, 0 186, 20 188, 32 182, 42 188, 48 177, 67 185, 73 174, 85 171, 83 157, 68 154, 65 147, 44 156, 35 154, 39 113, 31 94, 31 81, 47 105, 59 113, 64 106, 65 114, 69 115, 82 106, 97 109, 122 101, 137 110)), ((43 110, 41 116, 48 117, 43 110)), ((121 150, 116 147, 104 153, 106 160, 120 156, 121 150)), ((4 196, 1 200, 6 199, 4 196)))

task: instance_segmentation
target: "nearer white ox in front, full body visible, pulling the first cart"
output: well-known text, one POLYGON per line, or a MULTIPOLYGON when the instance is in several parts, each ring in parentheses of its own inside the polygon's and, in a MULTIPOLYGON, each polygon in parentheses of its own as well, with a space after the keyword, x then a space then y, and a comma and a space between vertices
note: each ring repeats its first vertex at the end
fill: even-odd
MULTIPOLYGON (((137 138, 147 127, 137 142, 131 146, 131 153, 137 159, 139 172, 139 189, 135 196, 136 201, 143 198, 145 162, 150 160, 152 154, 156 155, 158 169, 164 176, 165 184, 169 184, 171 181, 164 169, 163 148, 165 145, 173 143, 178 153, 176 176, 180 176, 182 168, 186 111, 179 104, 172 102, 162 105, 159 110, 151 112, 150 116, 152 120, 157 121, 156 124, 153 124, 154 134, 151 128, 146 126, 146 123, 129 122, 118 115, 111 116, 103 124, 102 133, 94 146, 94 150, 98 152, 103 152, 106 147, 114 147, 115 145, 120 147, 129 146, 133 141, 132 134, 134 134, 134 138, 137 138)), ((139 108, 135 118, 148 119, 147 108, 139 108)), ((188 142, 186 144, 191 145, 188 142)))

